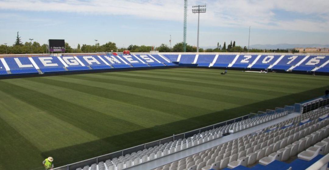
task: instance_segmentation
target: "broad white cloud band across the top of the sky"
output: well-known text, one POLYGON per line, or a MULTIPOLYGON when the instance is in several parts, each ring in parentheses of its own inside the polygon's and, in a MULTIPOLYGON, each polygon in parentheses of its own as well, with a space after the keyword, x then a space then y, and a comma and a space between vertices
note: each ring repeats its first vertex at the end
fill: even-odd
MULTIPOLYGON (((191 5, 207 3, 202 22, 209 26, 329 32, 328 0, 189 0, 191 5), (313 15, 319 20, 275 19, 273 10, 313 15), (323 22, 323 20, 325 20, 323 22)), ((131 15, 156 20, 183 20, 183 0, 0 0, 0 9, 76 12, 85 15, 131 15)), ((189 8, 189 22, 196 17, 189 8)), ((289 16, 287 16, 289 18, 289 16)))

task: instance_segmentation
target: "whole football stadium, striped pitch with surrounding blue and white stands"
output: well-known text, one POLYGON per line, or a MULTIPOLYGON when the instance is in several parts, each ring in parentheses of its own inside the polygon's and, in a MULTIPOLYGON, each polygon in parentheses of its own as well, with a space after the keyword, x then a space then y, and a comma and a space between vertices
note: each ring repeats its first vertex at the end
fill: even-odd
POLYGON ((329 53, 186 52, 184 2, 182 52, 3 46, 0 170, 328 170, 329 53))

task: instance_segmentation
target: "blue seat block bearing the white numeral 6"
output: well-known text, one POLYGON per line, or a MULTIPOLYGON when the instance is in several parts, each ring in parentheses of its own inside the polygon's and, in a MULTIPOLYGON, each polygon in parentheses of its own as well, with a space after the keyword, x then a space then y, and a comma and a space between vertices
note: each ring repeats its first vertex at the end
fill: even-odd
POLYGON ((296 71, 311 71, 316 67, 320 67, 329 59, 329 56, 324 55, 311 55, 302 64, 293 68, 296 71))

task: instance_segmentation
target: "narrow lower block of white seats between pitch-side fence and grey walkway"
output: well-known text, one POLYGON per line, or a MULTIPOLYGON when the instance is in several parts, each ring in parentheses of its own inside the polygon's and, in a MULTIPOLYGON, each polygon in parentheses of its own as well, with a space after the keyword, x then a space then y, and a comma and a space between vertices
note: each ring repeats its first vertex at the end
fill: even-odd
MULTIPOLYGON (((289 114, 289 111, 284 111, 281 113, 264 115, 264 116, 256 116, 256 117, 245 119, 245 120, 242 120, 239 122, 234 122, 231 124, 227 124, 227 125, 224 125, 221 127, 217 127, 215 129, 211 129, 211 130, 202 132, 202 133, 195 134, 195 135, 193 135, 193 137, 175 140, 175 141, 164 143, 164 144, 161 144, 158 146, 150 147, 148 149, 140 150, 140 151, 134 152, 132 154, 120 156, 119 158, 114 158, 112 160, 100 162, 100 163, 98 163, 97 166, 104 167, 104 169, 106 169, 105 167, 107 167, 107 169, 109 169, 109 170, 111 170, 111 169, 120 170, 120 169, 124 169, 124 168, 129 168, 129 167, 139 165, 139 164, 147 162, 147 161, 152 161, 154 159, 164 157, 169 154, 173 154, 173 153, 181 151, 181 150, 189 149, 193 146, 202 144, 204 142, 208 142, 208 141, 211 141, 211 140, 214 140, 217 138, 221 138, 223 136, 223 134, 226 134, 229 132, 235 133, 240 130, 256 126, 258 124, 265 123, 265 122, 273 120, 273 119, 277 119, 277 118, 285 116, 287 114, 289 114)), ((250 145, 251 145, 251 143, 250 143, 250 145)), ((259 147, 260 146, 261 145, 259 145, 259 147)), ((238 149, 236 149, 236 151, 238 151, 238 149)), ((207 159, 209 159, 209 158, 207 157, 207 159)), ((188 164, 188 163, 189 162, 187 162, 186 164, 188 164)), ((91 165, 90 168, 92 166, 94 166, 94 165, 91 165)), ((85 168, 87 168, 87 167, 85 167, 85 168)), ((185 168, 188 168, 188 166, 186 166, 185 168)), ((185 168, 183 168, 183 169, 185 169, 185 168)))

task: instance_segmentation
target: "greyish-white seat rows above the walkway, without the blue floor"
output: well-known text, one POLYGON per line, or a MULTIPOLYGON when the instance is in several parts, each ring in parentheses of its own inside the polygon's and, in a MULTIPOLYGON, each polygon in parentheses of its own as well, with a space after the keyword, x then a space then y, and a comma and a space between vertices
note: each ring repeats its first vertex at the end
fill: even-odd
POLYGON ((307 137, 307 144, 312 144, 329 135, 328 118, 319 119, 321 116, 327 117, 328 111, 328 108, 324 108, 297 116, 155 170, 219 170, 227 166, 234 168, 239 165, 252 165, 260 160, 270 163, 273 161, 272 157, 280 157, 280 153, 280 159, 284 155, 283 160, 286 160, 305 148, 303 144, 298 144, 298 140, 307 137), (303 123, 305 121, 307 123, 303 123), (316 131, 319 131, 319 134, 313 137, 317 134, 316 131))

